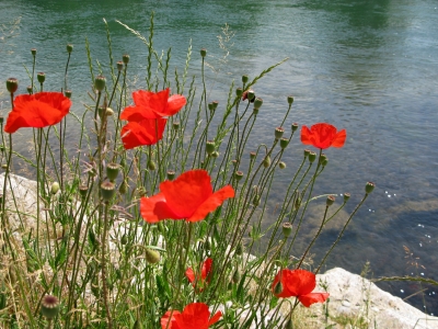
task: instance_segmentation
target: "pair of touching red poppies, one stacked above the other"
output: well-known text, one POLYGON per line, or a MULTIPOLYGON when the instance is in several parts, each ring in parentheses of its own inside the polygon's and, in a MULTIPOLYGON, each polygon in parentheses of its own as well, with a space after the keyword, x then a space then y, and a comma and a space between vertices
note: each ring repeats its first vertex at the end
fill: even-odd
POLYGON ((169 98, 169 88, 160 92, 138 90, 132 92, 135 105, 120 113, 120 120, 128 121, 122 128, 125 149, 141 145, 154 145, 163 138, 166 118, 177 113, 186 103, 185 97, 169 98))

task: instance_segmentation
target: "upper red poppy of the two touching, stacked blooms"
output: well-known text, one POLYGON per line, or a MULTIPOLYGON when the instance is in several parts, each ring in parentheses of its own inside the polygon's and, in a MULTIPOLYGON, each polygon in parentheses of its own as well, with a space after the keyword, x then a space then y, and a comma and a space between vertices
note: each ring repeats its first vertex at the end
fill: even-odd
POLYGON ((132 92, 135 105, 126 107, 120 113, 120 118, 139 122, 143 118, 174 115, 185 105, 186 100, 181 94, 174 94, 169 98, 169 88, 159 92, 148 90, 132 92))

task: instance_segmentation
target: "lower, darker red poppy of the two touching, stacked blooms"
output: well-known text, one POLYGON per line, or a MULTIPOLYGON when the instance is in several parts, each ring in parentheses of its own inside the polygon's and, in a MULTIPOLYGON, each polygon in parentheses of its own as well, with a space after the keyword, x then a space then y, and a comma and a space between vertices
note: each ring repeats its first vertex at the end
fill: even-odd
POLYGON ((163 138, 166 118, 129 122, 122 128, 120 136, 125 149, 142 145, 154 145, 163 138))

